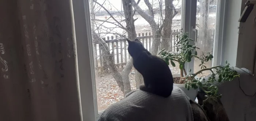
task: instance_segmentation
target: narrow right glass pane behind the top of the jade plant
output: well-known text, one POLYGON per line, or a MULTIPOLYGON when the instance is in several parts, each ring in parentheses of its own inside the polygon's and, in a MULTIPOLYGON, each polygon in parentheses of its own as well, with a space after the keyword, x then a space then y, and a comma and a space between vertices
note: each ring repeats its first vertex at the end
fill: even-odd
MULTIPOLYGON (((197 55, 202 55, 202 51, 211 52, 214 46, 215 24, 216 24, 216 12, 217 12, 218 0, 198 0, 197 1, 197 13, 196 13, 196 29, 198 31, 196 46, 200 48, 197 51, 197 55)), ((212 61, 205 62, 206 67, 212 66, 212 61)), ((194 73, 201 69, 201 61, 195 58, 194 73)), ((204 72, 204 75, 210 74, 204 72)))

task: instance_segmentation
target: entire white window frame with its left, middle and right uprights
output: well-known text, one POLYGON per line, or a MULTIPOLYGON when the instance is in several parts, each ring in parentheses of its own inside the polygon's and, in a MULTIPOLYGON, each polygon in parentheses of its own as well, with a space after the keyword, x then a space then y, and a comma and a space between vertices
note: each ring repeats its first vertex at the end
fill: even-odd
MULTIPOLYGON (((76 46, 78 55, 78 74, 80 90, 80 110, 84 121, 98 120, 102 112, 98 112, 97 94, 95 86, 93 43, 90 41, 91 23, 89 0, 72 0, 74 11, 74 23, 76 34, 76 46)), ((214 44, 213 65, 221 62, 223 22, 226 0, 218 0, 217 24, 214 44)), ((189 37, 195 39, 196 33, 193 31, 196 23, 196 0, 184 0, 182 9, 182 28, 184 32, 189 32, 189 37), (195 4, 195 5, 194 5, 195 4), (193 16, 193 17, 192 17, 193 16)), ((194 61, 192 59, 191 61, 194 61)), ((185 65, 187 69, 193 70, 193 64, 185 65)))

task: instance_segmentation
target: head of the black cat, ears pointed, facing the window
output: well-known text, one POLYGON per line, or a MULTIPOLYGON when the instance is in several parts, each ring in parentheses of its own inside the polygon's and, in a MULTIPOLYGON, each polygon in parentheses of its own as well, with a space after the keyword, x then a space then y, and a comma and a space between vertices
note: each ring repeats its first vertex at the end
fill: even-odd
POLYGON ((145 50, 143 44, 137 38, 134 41, 131 41, 131 40, 127 39, 127 42, 129 44, 128 45, 128 52, 132 57, 135 57, 136 55, 139 55, 140 52, 145 50))

